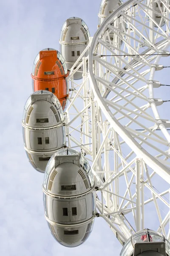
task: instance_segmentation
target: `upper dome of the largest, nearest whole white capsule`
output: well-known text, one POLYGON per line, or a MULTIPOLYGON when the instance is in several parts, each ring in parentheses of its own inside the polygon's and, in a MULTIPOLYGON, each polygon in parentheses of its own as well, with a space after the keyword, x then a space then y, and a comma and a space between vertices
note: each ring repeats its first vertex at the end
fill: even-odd
POLYGON ((46 166, 43 186, 54 195, 79 195, 93 188, 94 175, 82 154, 72 149, 61 149, 54 153, 46 166), (55 186, 49 183, 51 176, 55 186))

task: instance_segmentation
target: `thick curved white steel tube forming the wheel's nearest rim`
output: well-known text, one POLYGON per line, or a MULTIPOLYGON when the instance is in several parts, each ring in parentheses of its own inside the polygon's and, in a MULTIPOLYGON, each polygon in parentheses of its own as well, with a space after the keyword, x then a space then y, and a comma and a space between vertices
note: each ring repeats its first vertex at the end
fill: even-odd
POLYGON ((136 153, 138 157, 141 157, 144 162, 150 166, 158 175, 164 178, 164 180, 167 180, 168 183, 170 183, 170 170, 167 169, 166 166, 164 166, 162 163, 160 163, 158 160, 156 160, 151 154, 149 154, 142 146, 137 143, 137 141, 130 135, 130 133, 116 120, 116 118, 113 116, 112 112, 106 105, 104 99, 102 98, 99 88, 96 84, 96 80, 94 79, 94 73, 93 73, 93 52, 95 50, 97 39, 102 34, 103 29, 110 23, 113 18, 115 18, 119 13, 121 13, 122 10, 127 8, 128 6, 135 5, 138 1, 129 0, 126 3, 124 3, 122 6, 120 6, 116 11, 111 13, 109 17, 101 24, 99 29, 94 35, 94 38, 92 40, 91 46, 89 48, 89 76, 91 81, 91 87, 95 96, 96 101, 98 102, 100 108, 102 109, 103 113, 107 117, 108 121, 110 122, 111 126, 114 127, 114 130, 122 137, 122 139, 127 143, 127 145, 130 146, 130 148, 136 153))

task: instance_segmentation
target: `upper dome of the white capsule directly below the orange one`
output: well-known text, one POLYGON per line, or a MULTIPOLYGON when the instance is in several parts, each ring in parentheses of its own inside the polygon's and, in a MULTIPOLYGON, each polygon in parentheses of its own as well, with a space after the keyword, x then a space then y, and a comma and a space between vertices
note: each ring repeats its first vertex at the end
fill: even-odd
POLYGON ((45 90, 31 94, 24 107, 23 123, 31 127, 49 127, 64 121, 64 113, 57 97, 45 90))

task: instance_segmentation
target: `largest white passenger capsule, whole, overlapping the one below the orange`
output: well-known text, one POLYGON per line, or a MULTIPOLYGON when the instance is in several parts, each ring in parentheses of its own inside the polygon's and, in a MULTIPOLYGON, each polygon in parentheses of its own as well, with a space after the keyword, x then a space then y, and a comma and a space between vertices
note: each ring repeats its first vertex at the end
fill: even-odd
POLYGON ((49 160, 43 183, 45 218, 54 238, 76 247, 90 235, 96 209, 94 175, 78 151, 62 149, 49 160))

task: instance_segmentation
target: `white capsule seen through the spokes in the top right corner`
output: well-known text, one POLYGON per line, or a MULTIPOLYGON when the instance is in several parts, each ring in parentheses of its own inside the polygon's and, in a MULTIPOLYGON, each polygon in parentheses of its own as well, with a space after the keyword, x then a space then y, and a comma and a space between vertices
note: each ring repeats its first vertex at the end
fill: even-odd
MULTIPOLYGON (((169 5, 169 4, 170 4, 170 1, 167 1, 167 5, 169 5)), ((151 9, 154 9, 154 11, 158 12, 160 15, 162 15, 162 13, 163 13, 165 17, 167 16, 167 10, 165 9, 165 11, 164 11, 164 8, 166 8, 166 7, 164 6, 164 4, 160 0, 154 1, 153 6, 152 6, 152 1, 147 0, 147 5, 151 9), (161 13, 161 11, 162 11, 162 13, 161 13)), ((149 15, 152 15, 151 12, 150 12, 150 9, 148 9, 147 12, 148 12, 149 15)), ((159 14, 154 13, 154 20, 156 21, 156 23, 159 26, 164 26, 165 20, 159 14)), ((155 23, 154 23, 154 26, 158 27, 155 23)))

